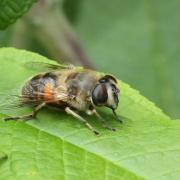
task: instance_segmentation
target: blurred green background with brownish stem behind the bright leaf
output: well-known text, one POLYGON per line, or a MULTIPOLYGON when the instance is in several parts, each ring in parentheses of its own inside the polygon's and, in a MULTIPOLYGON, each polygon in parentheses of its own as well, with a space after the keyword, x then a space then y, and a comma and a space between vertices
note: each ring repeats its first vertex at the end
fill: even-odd
POLYGON ((0 46, 112 73, 180 117, 179 0, 39 0, 0 46))

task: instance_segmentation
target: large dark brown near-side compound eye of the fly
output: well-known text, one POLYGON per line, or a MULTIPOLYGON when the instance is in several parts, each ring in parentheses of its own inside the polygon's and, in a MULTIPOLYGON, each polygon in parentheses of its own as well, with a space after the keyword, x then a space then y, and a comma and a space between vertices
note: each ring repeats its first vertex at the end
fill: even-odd
POLYGON ((92 101, 95 105, 100 106, 107 103, 108 93, 105 84, 98 84, 92 92, 92 101))

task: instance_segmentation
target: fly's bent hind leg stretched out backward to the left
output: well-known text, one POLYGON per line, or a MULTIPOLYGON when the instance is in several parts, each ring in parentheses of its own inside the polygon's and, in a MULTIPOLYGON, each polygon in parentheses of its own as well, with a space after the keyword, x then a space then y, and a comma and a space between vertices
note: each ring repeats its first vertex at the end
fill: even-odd
POLYGON ((39 110, 42 109, 45 105, 46 105, 46 103, 39 104, 31 114, 23 115, 23 116, 16 116, 16 117, 8 117, 8 118, 4 118, 4 120, 5 121, 20 120, 20 119, 21 120, 30 120, 32 118, 35 118, 37 113, 39 112, 39 110))

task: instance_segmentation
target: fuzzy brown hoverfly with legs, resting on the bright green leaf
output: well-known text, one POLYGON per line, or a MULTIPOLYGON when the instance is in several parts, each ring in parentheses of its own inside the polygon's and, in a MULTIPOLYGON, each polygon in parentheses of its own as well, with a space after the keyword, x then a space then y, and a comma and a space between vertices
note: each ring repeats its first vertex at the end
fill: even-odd
MULTIPOLYGON (((44 106, 64 109, 68 114, 82 121, 95 134, 99 132, 92 127, 78 112, 96 115, 97 106, 106 106, 113 110, 118 106, 117 80, 111 75, 98 74, 95 71, 79 68, 66 68, 38 74, 28 80, 22 88, 21 99, 24 104, 32 104, 32 114, 9 117, 6 120, 31 119, 44 106)), ((105 127, 114 130, 105 125, 105 127)))

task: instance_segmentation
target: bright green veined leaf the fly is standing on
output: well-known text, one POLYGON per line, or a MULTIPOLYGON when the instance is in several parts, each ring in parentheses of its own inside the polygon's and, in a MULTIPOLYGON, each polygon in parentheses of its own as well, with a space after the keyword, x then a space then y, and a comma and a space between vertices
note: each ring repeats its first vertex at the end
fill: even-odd
MULTIPOLYGON (((37 70, 25 62, 51 62, 38 54, 13 48, 0 50, 0 101, 18 93, 37 70)), ((73 117, 44 109, 25 122, 0 122, 0 150, 8 160, 0 166, 2 179, 179 179, 180 123, 170 120, 136 90, 119 81, 121 89, 116 122, 111 112, 101 114, 116 127, 104 129, 95 117, 87 117, 101 136, 95 136, 73 117)), ((30 109, 4 109, 12 116, 30 109)))

